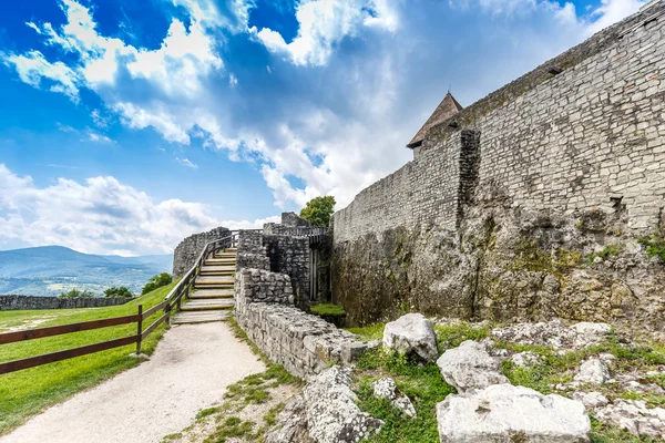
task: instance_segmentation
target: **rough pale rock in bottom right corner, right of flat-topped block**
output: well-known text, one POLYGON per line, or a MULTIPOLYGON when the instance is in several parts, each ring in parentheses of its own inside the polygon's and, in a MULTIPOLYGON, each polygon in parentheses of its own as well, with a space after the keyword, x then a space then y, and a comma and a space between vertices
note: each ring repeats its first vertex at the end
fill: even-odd
POLYGON ((649 409, 642 400, 616 400, 613 404, 596 409, 595 416, 633 435, 665 440, 665 409, 649 409))

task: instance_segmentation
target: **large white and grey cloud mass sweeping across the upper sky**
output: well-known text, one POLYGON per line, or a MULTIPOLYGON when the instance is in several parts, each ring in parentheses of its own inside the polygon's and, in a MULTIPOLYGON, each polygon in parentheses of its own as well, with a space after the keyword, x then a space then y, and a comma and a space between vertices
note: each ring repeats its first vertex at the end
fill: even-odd
POLYGON ((90 9, 61 0, 65 25, 29 25, 78 62, 2 60, 34 87, 96 92, 130 128, 255 163, 278 207, 324 194, 344 207, 410 158, 405 144, 449 84, 469 105, 643 4, 603 0, 581 16, 543 0, 303 0, 287 41, 249 22, 252 1, 172 1, 188 25, 173 19, 157 49, 102 35, 90 9), (258 68, 233 65, 237 48, 258 68))

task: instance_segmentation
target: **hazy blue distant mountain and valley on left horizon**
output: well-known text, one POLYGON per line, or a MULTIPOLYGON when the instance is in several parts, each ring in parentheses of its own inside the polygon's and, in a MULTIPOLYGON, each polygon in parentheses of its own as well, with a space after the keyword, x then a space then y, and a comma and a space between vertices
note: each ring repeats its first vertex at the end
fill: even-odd
POLYGON ((57 296, 71 288, 96 295, 111 286, 133 292, 155 274, 171 272, 172 255, 139 257, 83 254, 63 246, 0 251, 0 293, 57 296))

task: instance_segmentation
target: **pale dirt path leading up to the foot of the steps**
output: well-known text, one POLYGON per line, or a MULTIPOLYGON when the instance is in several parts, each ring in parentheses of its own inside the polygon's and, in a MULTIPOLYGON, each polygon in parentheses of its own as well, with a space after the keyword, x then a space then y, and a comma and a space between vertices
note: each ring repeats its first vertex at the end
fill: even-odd
POLYGON ((143 364, 50 408, 1 443, 150 443, 221 402, 264 364, 225 322, 173 327, 143 364))

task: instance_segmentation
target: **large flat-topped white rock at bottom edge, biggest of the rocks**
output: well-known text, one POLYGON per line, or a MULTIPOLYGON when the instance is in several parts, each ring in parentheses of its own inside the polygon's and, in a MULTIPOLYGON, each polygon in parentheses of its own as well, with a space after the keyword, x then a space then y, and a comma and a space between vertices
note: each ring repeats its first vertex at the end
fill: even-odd
POLYGON ((437 421, 441 443, 582 443, 591 431, 581 402, 511 384, 448 395, 437 421))

